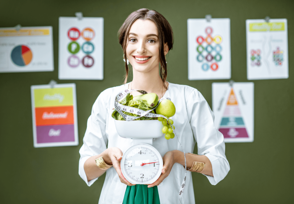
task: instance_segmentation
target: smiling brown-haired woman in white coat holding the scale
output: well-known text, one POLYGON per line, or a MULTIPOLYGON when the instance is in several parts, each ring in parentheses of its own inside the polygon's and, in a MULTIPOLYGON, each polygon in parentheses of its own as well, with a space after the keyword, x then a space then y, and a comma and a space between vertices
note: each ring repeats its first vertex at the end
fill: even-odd
MULTIPOLYGON (((159 98, 171 98, 176 106, 176 114, 172 119, 181 145, 186 153, 193 153, 196 142, 198 146, 199 155, 186 154, 187 168, 195 170, 196 164, 205 163, 201 173, 206 175, 212 185, 216 185, 230 170, 225 157, 223 135, 214 127, 213 112, 201 93, 189 86, 166 82, 165 56, 173 46, 173 32, 168 21, 153 10, 134 11, 119 30, 119 42, 126 66, 125 84, 106 89, 93 105, 80 149, 81 178, 90 186, 106 171, 96 165, 95 160, 102 156, 105 165, 113 165, 113 168, 106 171, 99 203, 122 203, 127 185, 133 185, 123 177, 120 169, 122 154, 132 146, 132 139, 118 136, 111 117, 118 92, 132 88, 156 93, 159 98), (133 68, 133 80, 130 83, 126 83, 128 61, 133 68)), ((135 92, 133 95, 139 94, 135 92)), ((153 146, 163 156, 164 165, 161 176, 148 188, 160 184, 160 203, 179 203, 178 192, 185 174, 183 150, 176 139, 166 140, 164 137, 153 141, 153 146)), ((182 196, 185 203, 195 203, 189 171, 182 196)))

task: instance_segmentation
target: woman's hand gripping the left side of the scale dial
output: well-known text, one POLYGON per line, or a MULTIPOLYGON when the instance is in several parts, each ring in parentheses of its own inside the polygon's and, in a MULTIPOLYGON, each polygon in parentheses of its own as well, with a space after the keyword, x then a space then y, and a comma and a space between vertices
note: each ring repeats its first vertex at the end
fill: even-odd
POLYGON ((135 185, 128 182, 128 180, 126 180, 126 178, 123 176, 123 173, 121 172, 121 159, 123 156, 123 152, 117 147, 110 147, 107 148, 107 150, 108 158, 111 160, 111 163, 116 170, 116 173, 118 174, 121 183, 124 183, 126 185, 135 185))

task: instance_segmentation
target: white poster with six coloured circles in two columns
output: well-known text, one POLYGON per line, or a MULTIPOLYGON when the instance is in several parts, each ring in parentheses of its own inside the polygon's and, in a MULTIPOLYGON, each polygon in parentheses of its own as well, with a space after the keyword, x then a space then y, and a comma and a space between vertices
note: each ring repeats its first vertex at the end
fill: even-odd
POLYGON ((59 17, 59 79, 103 79, 103 18, 59 17))

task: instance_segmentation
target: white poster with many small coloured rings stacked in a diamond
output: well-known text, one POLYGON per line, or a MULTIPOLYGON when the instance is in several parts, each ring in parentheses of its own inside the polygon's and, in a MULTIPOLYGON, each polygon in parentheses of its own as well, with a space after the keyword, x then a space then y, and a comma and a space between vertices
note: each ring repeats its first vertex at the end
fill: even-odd
POLYGON ((188 19, 188 79, 230 79, 230 19, 188 19))

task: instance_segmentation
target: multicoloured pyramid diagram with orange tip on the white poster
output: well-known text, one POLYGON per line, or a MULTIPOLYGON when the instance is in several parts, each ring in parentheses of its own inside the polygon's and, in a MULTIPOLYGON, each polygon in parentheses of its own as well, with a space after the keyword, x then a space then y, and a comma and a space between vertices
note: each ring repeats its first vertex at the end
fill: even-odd
POLYGON ((223 133, 224 138, 249 137, 233 88, 230 90, 228 101, 225 106, 225 111, 220 121, 220 128, 218 130, 223 133))

